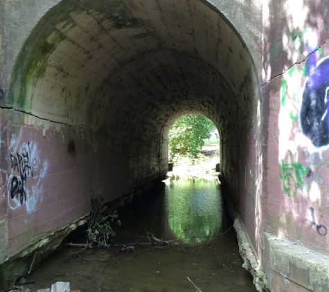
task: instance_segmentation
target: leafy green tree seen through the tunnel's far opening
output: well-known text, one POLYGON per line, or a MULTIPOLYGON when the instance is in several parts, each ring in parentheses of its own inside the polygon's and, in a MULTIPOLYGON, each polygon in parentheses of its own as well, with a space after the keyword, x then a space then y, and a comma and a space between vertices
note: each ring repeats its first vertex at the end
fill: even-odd
POLYGON ((211 136, 216 127, 205 116, 188 115, 177 120, 169 131, 168 149, 170 158, 177 154, 194 158, 204 145, 204 139, 211 136))

